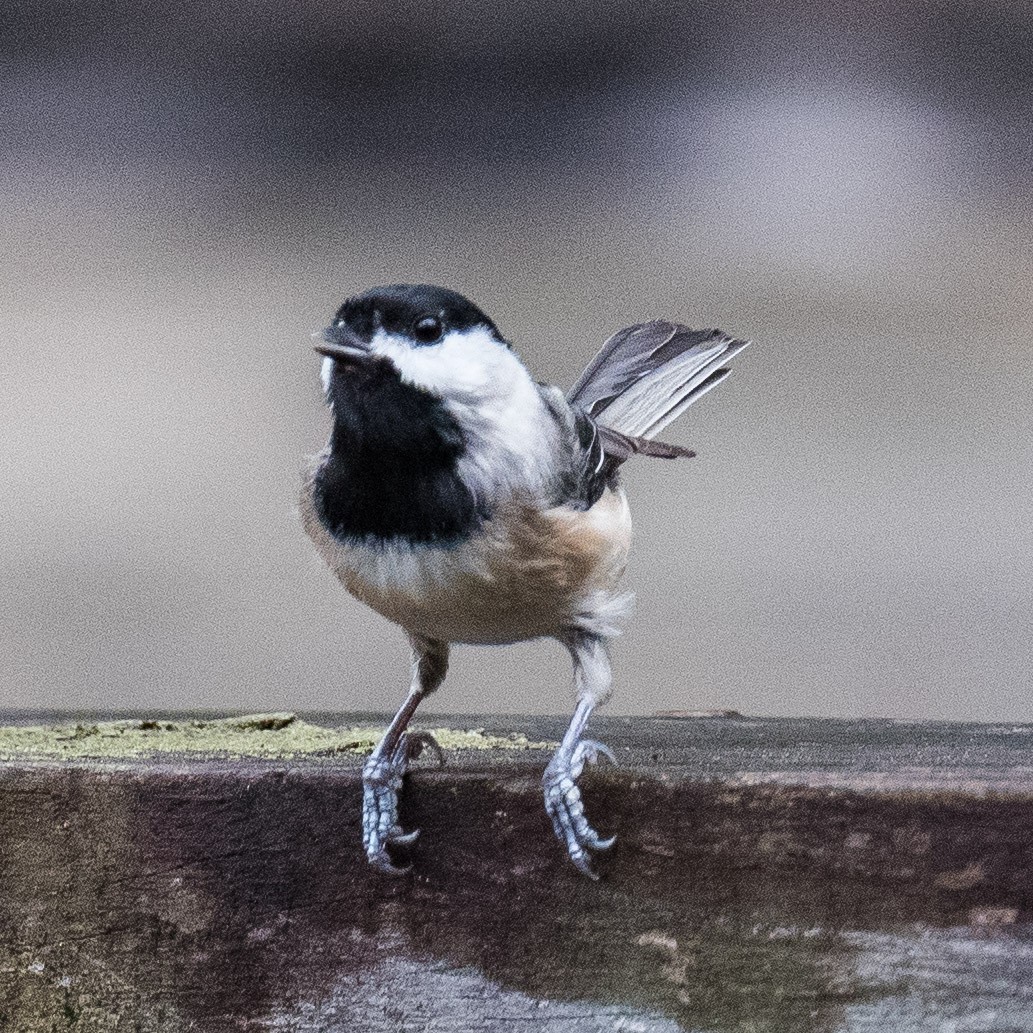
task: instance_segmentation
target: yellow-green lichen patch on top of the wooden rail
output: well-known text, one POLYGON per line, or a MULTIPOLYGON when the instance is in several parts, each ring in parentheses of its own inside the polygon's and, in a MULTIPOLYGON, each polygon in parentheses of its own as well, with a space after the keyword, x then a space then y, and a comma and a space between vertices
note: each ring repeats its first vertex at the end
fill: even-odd
MULTIPOLYGON (((446 750, 534 750, 555 743, 492 735, 480 728, 428 729, 446 750)), ((128 760, 155 756, 331 757, 366 754, 382 728, 325 728, 293 714, 250 714, 211 720, 102 721, 96 724, 0 728, 0 760, 128 760)))

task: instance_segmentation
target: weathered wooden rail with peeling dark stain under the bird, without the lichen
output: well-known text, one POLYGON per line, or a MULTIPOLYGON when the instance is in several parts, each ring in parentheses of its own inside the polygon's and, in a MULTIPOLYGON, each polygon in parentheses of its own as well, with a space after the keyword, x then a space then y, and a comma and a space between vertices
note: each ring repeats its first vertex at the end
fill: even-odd
POLYGON ((599 720, 598 883, 553 840, 543 750, 421 762, 394 879, 357 756, 9 760, 0 1029, 1033 1030, 1010 728, 599 720))

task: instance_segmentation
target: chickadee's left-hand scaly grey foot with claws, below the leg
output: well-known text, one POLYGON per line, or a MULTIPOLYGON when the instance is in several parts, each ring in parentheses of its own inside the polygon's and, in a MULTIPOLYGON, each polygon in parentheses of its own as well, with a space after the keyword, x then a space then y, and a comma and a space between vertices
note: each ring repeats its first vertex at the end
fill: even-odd
POLYGON ((444 764, 445 755, 429 731, 403 732, 389 753, 378 746, 363 765, 363 846, 369 863, 388 875, 405 875, 412 867, 396 865, 387 847, 407 847, 415 843, 419 829, 406 833, 398 823, 398 794, 409 761, 430 747, 444 764))

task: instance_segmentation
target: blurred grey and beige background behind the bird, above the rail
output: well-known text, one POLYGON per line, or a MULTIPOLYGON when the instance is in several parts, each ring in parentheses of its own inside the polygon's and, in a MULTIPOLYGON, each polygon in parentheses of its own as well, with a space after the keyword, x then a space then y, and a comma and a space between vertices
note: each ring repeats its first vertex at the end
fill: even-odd
MULTIPOLYGON (((612 713, 1031 720, 1033 13, 874 0, 0 14, 0 706, 392 709, 303 535, 309 334, 393 281, 540 378, 754 340, 627 468, 612 713)), ((551 643, 429 710, 562 712, 551 643)))

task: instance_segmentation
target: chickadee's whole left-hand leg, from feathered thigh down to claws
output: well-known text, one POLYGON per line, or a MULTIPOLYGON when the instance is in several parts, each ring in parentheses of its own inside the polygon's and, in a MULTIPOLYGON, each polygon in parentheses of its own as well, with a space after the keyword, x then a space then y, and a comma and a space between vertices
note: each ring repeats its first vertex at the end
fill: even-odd
POLYGON ((388 846, 409 846, 419 835, 405 833, 398 823, 398 794, 409 761, 424 747, 431 746, 444 762, 441 747, 426 731, 407 731, 424 696, 444 680, 448 669, 448 645, 419 635, 412 643, 412 685, 405 702, 363 765, 363 846, 370 864, 381 872, 403 875, 409 869, 397 867, 387 854, 388 846))

